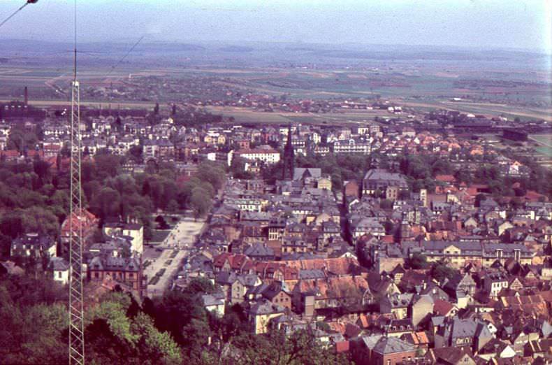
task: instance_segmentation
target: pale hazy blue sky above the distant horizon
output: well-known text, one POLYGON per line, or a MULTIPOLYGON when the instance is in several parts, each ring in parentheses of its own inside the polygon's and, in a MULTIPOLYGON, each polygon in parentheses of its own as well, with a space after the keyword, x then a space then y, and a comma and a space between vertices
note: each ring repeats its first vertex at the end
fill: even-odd
MULTIPOLYGON (((3 19, 24 0, 0 0, 3 19)), ((552 0, 78 0, 82 41, 270 41, 551 49, 552 0)), ((1 38, 72 38, 73 0, 39 0, 1 38)))

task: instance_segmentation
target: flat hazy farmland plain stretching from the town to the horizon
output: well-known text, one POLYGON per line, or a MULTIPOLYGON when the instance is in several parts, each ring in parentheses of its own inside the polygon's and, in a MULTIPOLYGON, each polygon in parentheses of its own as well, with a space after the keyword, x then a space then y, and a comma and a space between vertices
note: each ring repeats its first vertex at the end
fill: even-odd
MULTIPOLYGON (((34 105, 64 105, 72 77, 71 47, 37 41, 26 46, 34 50, 30 58, 20 57, 17 47, 0 42, 0 99, 22 99, 27 86, 34 105)), ((145 43, 115 68, 127 49, 120 43, 82 45, 83 104, 151 108, 156 102, 163 107, 220 101, 208 109, 246 123, 363 122, 384 113, 265 113, 232 107, 240 95, 254 94, 287 100, 386 100, 421 111, 440 108, 552 122, 546 55, 291 44, 251 45, 247 52, 237 52, 212 44, 145 43)))

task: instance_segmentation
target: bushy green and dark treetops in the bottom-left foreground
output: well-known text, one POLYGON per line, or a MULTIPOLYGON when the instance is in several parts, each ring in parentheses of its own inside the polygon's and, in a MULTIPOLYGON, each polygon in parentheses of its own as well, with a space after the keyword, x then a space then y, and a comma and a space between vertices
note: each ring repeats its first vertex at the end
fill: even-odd
MULTIPOLYGON (((0 280, 0 358, 9 364, 64 364, 68 316, 52 280, 0 280), (34 289, 34 290, 33 290, 34 289)), ((61 289, 61 288, 59 288, 61 289)), ((128 294, 112 292, 89 308, 85 353, 89 364, 348 364, 312 334, 249 333, 240 305, 219 318, 201 306, 213 293, 209 280, 192 280, 140 308, 128 294), (212 344, 210 344, 210 338, 212 344)), ((324 325, 322 325, 324 327, 324 325)))

